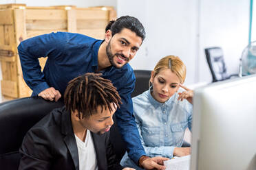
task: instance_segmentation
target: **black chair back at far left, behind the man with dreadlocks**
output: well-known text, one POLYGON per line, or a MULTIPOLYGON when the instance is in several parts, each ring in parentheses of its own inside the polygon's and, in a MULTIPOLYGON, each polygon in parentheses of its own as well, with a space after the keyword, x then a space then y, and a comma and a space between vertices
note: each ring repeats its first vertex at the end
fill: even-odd
POLYGON ((45 101, 41 97, 25 97, 0 104, 0 169, 18 169, 23 136, 48 112, 61 106, 61 101, 45 101))

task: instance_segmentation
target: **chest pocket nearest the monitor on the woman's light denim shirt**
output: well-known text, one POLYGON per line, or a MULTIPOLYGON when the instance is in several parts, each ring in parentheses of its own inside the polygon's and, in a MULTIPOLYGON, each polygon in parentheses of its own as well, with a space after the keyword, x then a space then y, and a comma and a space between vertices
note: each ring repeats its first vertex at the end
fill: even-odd
POLYGON ((187 123, 178 123, 171 125, 171 132, 173 136, 173 145, 180 147, 184 138, 184 132, 186 130, 187 123))

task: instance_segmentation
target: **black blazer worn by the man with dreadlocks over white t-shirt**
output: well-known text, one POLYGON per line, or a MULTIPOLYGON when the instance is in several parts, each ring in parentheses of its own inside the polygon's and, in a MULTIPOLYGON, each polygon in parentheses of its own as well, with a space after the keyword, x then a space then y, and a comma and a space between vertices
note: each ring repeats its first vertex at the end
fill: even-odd
MULTIPOLYGON (((92 133, 98 170, 122 169, 116 160, 109 132, 92 133)), ((70 112, 65 107, 47 114, 25 135, 20 148, 19 169, 79 169, 78 149, 70 112)))

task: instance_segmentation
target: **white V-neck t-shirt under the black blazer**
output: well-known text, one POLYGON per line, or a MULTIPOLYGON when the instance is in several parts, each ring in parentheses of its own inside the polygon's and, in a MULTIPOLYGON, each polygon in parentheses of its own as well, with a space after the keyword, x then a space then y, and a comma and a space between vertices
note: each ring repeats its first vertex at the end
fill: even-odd
POLYGON ((92 141, 92 134, 87 130, 85 142, 76 137, 76 145, 78 149, 79 169, 80 170, 98 170, 98 163, 96 158, 96 151, 94 142, 92 141))

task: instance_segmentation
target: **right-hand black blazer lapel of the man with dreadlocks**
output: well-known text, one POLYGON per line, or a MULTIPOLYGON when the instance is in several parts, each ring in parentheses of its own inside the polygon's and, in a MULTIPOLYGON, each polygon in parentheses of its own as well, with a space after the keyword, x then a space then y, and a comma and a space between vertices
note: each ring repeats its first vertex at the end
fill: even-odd
POLYGON ((107 169, 107 159, 105 151, 105 135, 98 135, 92 133, 92 138, 94 141, 94 148, 96 151, 96 157, 98 162, 98 169, 107 169))

